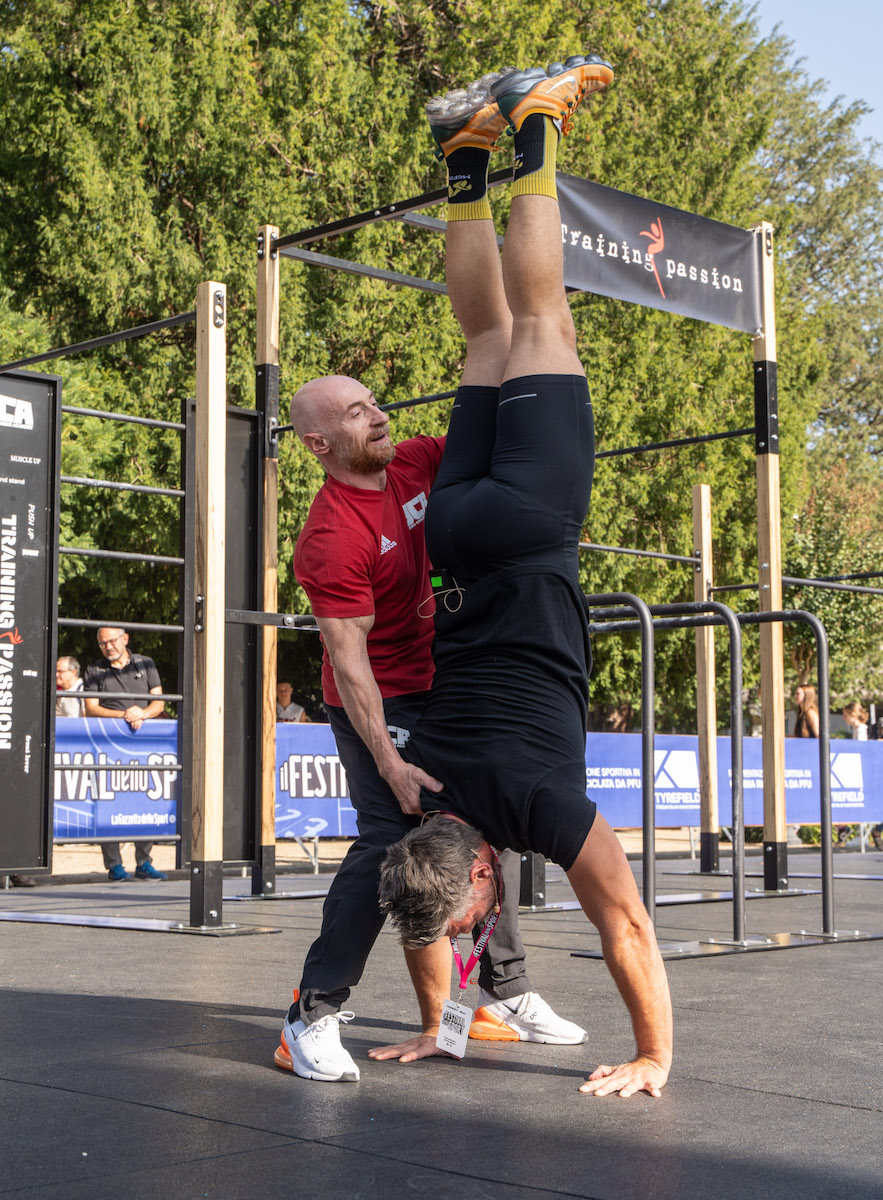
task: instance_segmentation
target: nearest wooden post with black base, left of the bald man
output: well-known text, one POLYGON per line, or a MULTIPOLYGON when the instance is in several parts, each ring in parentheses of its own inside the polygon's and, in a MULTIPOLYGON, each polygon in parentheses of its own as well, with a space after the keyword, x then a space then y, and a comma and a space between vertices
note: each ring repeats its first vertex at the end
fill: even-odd
POLYGON ((227 522, 227 288, 197 289, 194 420, 196 619, 193 638, 193 785, 190 916, 193 926, 223 920, 224 534, 227 522))

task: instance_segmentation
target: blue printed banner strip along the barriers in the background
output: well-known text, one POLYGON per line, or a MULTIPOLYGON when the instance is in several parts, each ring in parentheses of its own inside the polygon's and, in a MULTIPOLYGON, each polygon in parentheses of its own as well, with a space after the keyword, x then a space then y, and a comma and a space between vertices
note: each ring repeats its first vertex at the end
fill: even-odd
MULTIPOLYGON (((68 719, 55 733, 56 840, 125 841, 173 836, 178 773, 174 721, 68 719), (94 769, 74 772, 85 763, 94 769), (65 769, 67 767, 67 769, 65 769)), ((745 823, 763 824, 761 739, 745 738, 745 823)), ((835 821, 883 821, 883 742, 831 742, 835 821)), ((792 824, 818 824, 818 742, 785 743, 786 811, 792 824)), ((656 823, 698 826, 697 738, 659 736, 655 749, 656 823)), ((717 738, 721 824, 732 823, 729 738, 717 738)), ((641 736, 589 733, 585 790, 613 826, 642 823, 641 736)), ((350 838, 356 834, 347 773, 328 725, 276 726, 276 836, 350 838)))

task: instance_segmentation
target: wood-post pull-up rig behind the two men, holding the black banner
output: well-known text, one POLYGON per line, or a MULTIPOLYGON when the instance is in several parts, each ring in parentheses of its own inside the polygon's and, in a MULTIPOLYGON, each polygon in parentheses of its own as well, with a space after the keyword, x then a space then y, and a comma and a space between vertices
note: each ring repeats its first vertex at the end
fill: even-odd
MULTIPOLYGON (((497 186, 511 180, 511 170, 500 170, 488 176, 488 185, 497 186)), ((761 222, 750 230, 740 230, 719 222, 707 221, 693 214, 671 209, 643 200, 625 192, 617 192, 600 185, 588 184, 558 174, 558 191, 561 204, 563 240, 565 253, 565 284, 569 292, 587 290, 625 299, 672 312, 685 313, 699 320, 709 320, 740 329, 752 336, 753 344, 753 395, 755 424, 738 430, 721 431, 696 437, 672 438, 639 446, 601 450, 599 460, 625 456, 644 451, 716 442, 727 438, 755 437, 757 463, 757 535, 759 563, 759 607, 763 611, 781 611, 781 520, 779 499, 779 413, 776 379, 776 334, 773 227, 761 222), (665 224, 667 245, 673 247, 675 258, 662 259, 667 292, 656 272, 654 259, 638 259, 643 270, 631 272, 626 278, 624 266, 636 262, 635 242, 639 230, 648 229, 656 220, 665 224), (591 230, 591 232, 584 232, 591 230), (599 230, 603 230, 599 233, 599 230), (606 236, 605 236, 606 234, 606 236), (620 254, 621 246, 621 254, 620 254), (631 246, 631 248, 630 248, 631 246), (583 251, 589 250, 589 253, 583 251), (614 253, 615 252, 615 253, 614 253), (680 284, 681 275, 687 278, 684 258, 689 254, 716 256, 721 262, 735 264, 728 270, 713 268, 710 280, 714 287, 705 289, 701 301, 689 295, 687 283, 680 284), (629 257, 631 256, 631 257, 629 257), (737 280, 735 270, 745 275, 737 280), (731 275, 729 271, 733 274, 731 275), (650 274, 653 272, 653 274, 650 274), (625 281, 625 282, 624 282, 625 281), (738 282, 738 288, 737 288, 738 282), (659 292, 656 286, 659 284, 659 292), (680 289, 680 290, 679 290, 680 289), (715 290, 716 289, 716 290, 715 290), (662 299, 660 294, 662 293, 662 299)), ((266 414, 268 444, 265 458, 264 504, 270 529, 277 504, 277 445, 278 437, 290 431, 290 425, 280 424, 278 408, 278 317, 280 317, 280 258, 293 258, 307 265, 361 275, 385 283, 402 284, 438 295, 446 294, 444 283, 404 275, 366 263, 352 262, 305 248, 308 244, 332 238, 373 224, 378 221, 397 220, 430 232, 443 232, 445 223, 418 212, 446 200, 446 190, 437 188, 420 196, 378 206, 338 221, 314 226, 286 236, 280 236, 275 226, 263 226, 258 232, 258 354, 257 354, 257 407, 266 414)), ((703 270, 704 276, 709 272, 703 270)), ((416 400, 398 401, 382 406, 385 410, 433 403, 453 396, 453 391, 439 391, 416 400)), ((695 570, 693 596, 697 601, 711 595, 711 521, 710 498, 707 487, 693 488, 695 553, 692 556, 662 554, 655 551, 629 550, 626 547, 584 544, 582 548, 597 552, 626 553, 636 557, 669 559, 691 564, 695 570)), ((264 604, 271 613, 277 606, 277 559, 275 542, 264 548, 264 604)), ((264 634, 264 730, 270 728, 275 712, 275 691, 270 683, 275 678, 276 630, 268 626, 264 634)), ((699 744, 699 793, 701 793, 701 864, 704 870, 719 868, 720 822, 717 814, 716 770, 716 702, 714 631, 702 628, 696 634, 697 691, 698 691, 698 744, 699 744)), ((785 713, 781 696, 785 689, 783 644, 781 625, 770 624, 761 629, 761 698, 763 721, 763 794, 764 794, 764 884, 767 890, 787 892, 787 829, 785 815, 785 713)), ((263 754, 263 838, 262 862, 263 886, 256 887, 265 894, 272 892, 275 864, 272 828, 272 804, 275 803, 275 751, 265 738, 263 754)), ((527 884, 530 892, 531 884, 527 884)), ((523 889, 524 890, 524 889, 523 889)), ((536 888, 533 888, 534 893, 536 888)))

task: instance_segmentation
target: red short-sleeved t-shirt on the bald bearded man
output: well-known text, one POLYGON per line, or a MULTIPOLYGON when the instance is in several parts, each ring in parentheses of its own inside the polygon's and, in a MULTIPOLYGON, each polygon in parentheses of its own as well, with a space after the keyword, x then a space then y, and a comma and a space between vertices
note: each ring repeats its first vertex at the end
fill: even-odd
MULTIPOLYGON (((426 691, 432 682, 434 605, 422 526, 443 449, 444 438, 424 434, 400 442, 383 492, 329 476, 294 550, 317 617, 374 614, 368 658, 384 697, 426 691)), ((328 650, 322 688, 326 703, 342 707, 328 650)))

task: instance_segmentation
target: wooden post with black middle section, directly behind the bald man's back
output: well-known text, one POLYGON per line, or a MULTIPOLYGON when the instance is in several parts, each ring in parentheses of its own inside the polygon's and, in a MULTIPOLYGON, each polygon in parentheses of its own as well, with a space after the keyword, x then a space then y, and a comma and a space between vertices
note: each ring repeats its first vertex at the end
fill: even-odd
MULTIPOLYGON (((263 608, 278 611, 278 442, 270 433, 280 424, 280 257, 275 226, 258 230, 256 408, 264 414, 263 608)), ((274 625, 263 628, 260 722, 260 845, 252 870, 252 894, 276 890, 276 648, 274 625)))

